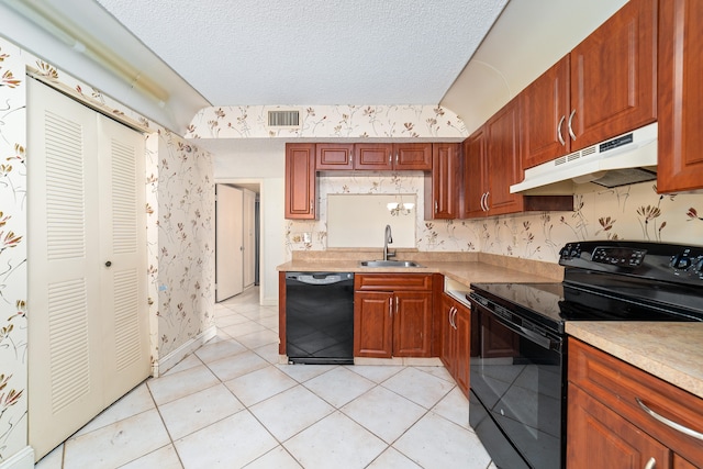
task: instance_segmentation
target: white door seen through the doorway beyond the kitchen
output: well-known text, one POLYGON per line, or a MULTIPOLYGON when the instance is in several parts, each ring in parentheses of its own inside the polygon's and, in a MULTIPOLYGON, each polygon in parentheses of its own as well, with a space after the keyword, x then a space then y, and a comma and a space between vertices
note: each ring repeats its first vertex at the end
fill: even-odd
POLYGON ((215 190, 215 301, 222 301, 244 291, 244 194, 226 185, 216 185, 215 190))

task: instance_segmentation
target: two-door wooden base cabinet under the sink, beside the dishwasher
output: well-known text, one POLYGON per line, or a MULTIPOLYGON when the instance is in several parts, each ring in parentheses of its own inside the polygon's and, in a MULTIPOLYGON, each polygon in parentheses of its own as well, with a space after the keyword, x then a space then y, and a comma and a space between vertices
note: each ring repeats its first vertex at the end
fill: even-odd
POLYGON ((432 276, 357 275, 355 289, 355 357, 432 356, 432 276))

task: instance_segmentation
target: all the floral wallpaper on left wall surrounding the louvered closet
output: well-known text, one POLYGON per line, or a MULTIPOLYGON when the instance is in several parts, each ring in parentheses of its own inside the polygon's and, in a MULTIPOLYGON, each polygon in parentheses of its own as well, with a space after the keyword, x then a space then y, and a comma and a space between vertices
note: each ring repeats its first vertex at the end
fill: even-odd
POLYGON ((150 132, 145 190, 153 359, 213 325, 211 155, 0 38, 0 464, 27 446, 25 72, 150 132))

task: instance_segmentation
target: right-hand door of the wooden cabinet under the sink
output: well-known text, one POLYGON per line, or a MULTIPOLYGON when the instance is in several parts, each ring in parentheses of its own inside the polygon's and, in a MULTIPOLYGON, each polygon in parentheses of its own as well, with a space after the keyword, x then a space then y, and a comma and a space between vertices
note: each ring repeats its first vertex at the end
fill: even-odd
POLYGON ((393 356, 432 356, 432 292, 394 293, 393 356))

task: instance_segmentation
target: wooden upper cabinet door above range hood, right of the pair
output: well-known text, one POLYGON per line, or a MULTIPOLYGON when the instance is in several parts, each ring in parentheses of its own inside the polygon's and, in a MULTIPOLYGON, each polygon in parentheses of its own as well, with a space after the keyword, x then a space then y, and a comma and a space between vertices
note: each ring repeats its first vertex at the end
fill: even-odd
POLYGON ((572 152, 657 119, 657 3, 627 2, 571 51, 572 152))

